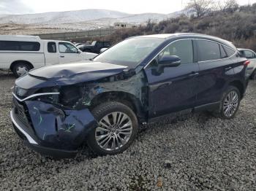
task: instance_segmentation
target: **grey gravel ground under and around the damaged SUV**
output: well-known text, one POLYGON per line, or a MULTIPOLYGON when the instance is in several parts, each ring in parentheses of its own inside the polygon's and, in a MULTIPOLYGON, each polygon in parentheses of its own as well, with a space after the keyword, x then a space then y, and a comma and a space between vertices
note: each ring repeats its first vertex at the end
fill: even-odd
POLYGON ((10 122, 15 79, 0 74, 0 190, 256 190, 256 82, 233 120, 194 114, 148 125, 126 152, 53 160, 23 145, 10 122))

